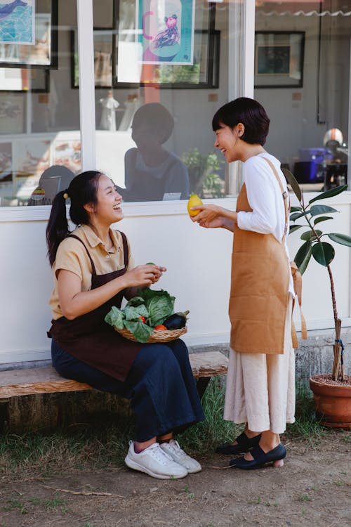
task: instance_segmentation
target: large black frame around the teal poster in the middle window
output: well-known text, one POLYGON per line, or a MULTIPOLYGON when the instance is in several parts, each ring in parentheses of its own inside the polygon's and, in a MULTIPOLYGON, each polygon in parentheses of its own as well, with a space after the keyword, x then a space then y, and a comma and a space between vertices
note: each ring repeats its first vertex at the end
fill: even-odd
POLYGON ((196 18, 195 0, 171 5, 165 20, 154 15, 157 10, 166 15, 165 0, 137 0, 137 8, 130 0, 114 0, 114 88, 218 87, 220 33, 215 31, 216 3, 209 2, 196 18))

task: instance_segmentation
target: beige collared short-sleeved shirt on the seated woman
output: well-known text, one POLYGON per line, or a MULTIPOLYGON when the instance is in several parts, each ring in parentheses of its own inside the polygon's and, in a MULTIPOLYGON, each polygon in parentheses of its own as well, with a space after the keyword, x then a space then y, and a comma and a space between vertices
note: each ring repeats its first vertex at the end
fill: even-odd
MULTIPOLYGON (((118 230, 110 228, 110 237, 113 242, 112 249, 108 251, 100 238, 93 232, 88 225, 77 227, 72 234, 81 238, 88 249, 91 259, 95 265, 97 275, 105 275, 113 271, 119 271, 124 268, 124 250, 123 240, 118 230)), ((131 249, 128 242, 128 266, 127 269, 133 269, 134 261, 131 255, 131 249)), ((53 263, 53 292, 49 301, 53 320, 62 317, 60 302, 58 299, 58 279, 57 272, 60 269, 71 271, 81 279, 81 290, 89 291, 91 289, 91 261, 88 257, 83 244, 74 238, 65 238, 58 246, 56 259, 53 263)))

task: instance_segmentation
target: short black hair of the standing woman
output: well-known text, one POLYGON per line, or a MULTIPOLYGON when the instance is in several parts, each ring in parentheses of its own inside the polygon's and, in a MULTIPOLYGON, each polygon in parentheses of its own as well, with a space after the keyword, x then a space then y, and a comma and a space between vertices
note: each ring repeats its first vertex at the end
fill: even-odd
POLYGON ((234 128, 241 122, 245 126, 242 141, 251 145, 264 145, 270 129, 270 119, 263 105, 249 97, 239 97, 223 105, 212 119, 213 131, 225 124, 234 128))

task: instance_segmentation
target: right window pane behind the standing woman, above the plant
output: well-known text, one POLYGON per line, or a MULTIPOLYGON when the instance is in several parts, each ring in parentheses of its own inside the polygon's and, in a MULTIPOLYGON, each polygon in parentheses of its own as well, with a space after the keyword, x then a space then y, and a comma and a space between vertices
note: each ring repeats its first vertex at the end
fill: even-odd
POLYGON ((256 7, 255 97, 271 119, 267 149, 305 190, 347 182, 350 2, 256 7))

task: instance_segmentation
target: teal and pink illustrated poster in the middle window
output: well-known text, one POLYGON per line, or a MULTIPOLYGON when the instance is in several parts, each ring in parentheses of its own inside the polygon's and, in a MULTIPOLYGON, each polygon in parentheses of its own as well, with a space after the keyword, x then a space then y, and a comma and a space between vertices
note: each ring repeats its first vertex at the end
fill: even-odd
POLYGON ((139 0, 137 11, 141 63, 192 65, 195 0, 139 0))

